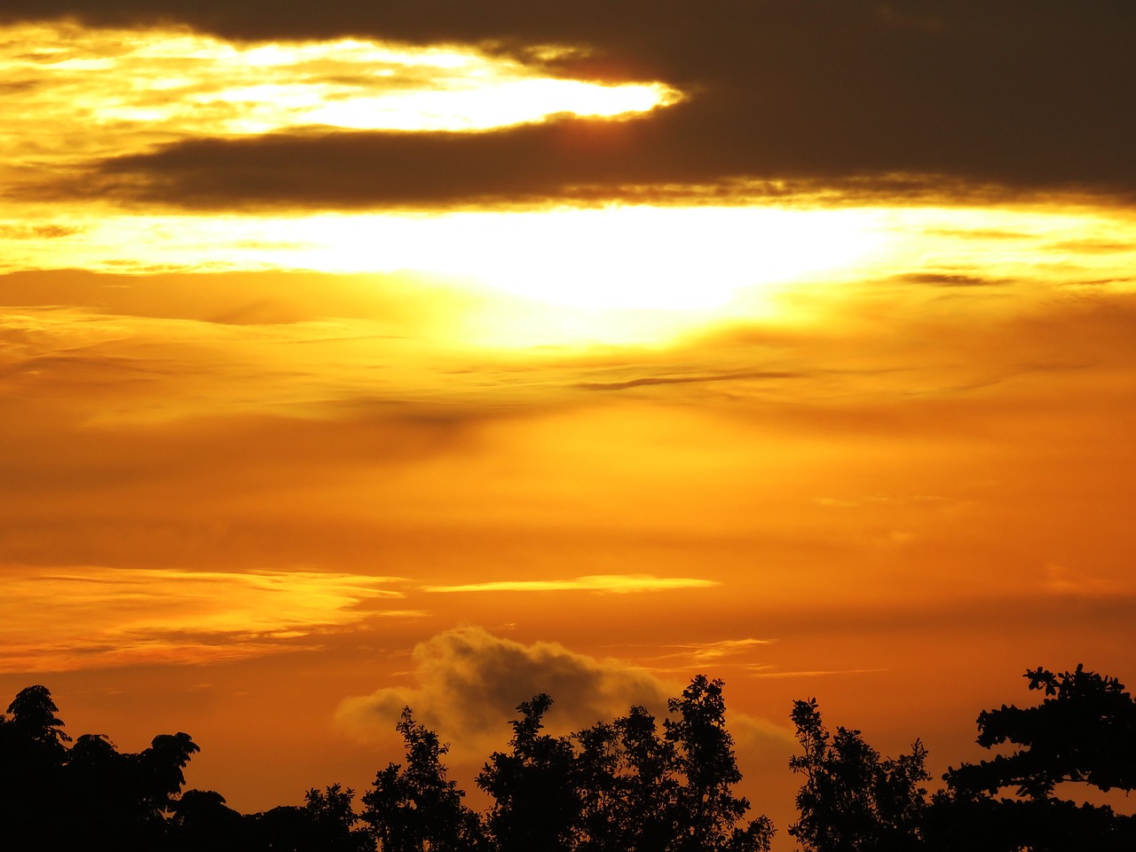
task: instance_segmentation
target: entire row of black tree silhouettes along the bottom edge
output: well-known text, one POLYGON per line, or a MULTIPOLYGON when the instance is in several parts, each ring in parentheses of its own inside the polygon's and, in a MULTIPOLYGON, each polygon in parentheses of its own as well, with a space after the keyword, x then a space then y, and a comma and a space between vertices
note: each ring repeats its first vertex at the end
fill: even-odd
MULTIPOLYGON (((978 743, 1010 753, 963 763, 928 801, 927 752, 882 758, 859 730, 825 728, 815 699, 791 718, 803 776, 788 833, 807 852, 1131 852, 1136 819, 1054 794, 1136 786, 1136 702, 1116 678, 1026 673, 1043 701, 978 717, 978 743), (1009 795, 1006 795, 1009 794, 1009 795)), ((446 777, 448 746, 404 708, 403 763, 379 770, 357 808, 337 784, 304 804, 241 815, 189 790, 197 744, 159 734, 136 754, 65 733, 51 693, 22 690, 0 715, 0 849, 62 852, 766 852, 772 826, 750 803, 726 727, 721 680, 699 675, 661 725, 642 707, 568 736, 545 732, 552 699, 521 702, 507 751, 477 777, 479 816, 446 777)))

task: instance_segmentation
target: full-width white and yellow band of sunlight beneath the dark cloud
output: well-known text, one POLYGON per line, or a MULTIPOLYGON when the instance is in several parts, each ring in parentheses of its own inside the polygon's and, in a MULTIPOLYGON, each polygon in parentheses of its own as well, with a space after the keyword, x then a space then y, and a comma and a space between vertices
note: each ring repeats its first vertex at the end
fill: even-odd
POLYGON ((911 276, 943 295, 951 286, 994 293, 1000 284, 1038 282, 1070 293, 1129 292, 1134 234, 1129 216, 1061 208, 609 206, 256 217, 107 210, 0 219, 0 272, 409 274, 468 292, 473 301, 451 311, 463 328, 438 331, 453 342, 661 343, 724 320, 805 321, 811 314, 794 296, 802 287, 808 310, 829 312, 832 300, 854 294, 863 281, 896 299, 928 292, 912 290, 911 276))

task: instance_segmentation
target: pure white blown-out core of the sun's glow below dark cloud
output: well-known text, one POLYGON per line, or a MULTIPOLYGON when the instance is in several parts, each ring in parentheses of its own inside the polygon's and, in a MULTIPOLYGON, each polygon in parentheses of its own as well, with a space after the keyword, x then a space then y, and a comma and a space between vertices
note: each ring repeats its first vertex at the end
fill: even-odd
POLYGON ((298 260, 469 276, 576 308, 712 309, 744 287, 847 266, 878 243, 869 225, 854 210, 745 207, 326 217, 310 223, 298 260))

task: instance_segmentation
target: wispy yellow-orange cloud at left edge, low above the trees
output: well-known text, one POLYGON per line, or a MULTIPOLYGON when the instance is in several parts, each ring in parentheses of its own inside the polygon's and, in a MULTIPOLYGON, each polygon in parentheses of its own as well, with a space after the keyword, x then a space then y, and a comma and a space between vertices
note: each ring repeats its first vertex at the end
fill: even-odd
POLYGON ((400 608, 396 577, 312 570, 7 567, 0 671, 245 659, 400 608), (361 608, 390 601, 386 609, 361 608))

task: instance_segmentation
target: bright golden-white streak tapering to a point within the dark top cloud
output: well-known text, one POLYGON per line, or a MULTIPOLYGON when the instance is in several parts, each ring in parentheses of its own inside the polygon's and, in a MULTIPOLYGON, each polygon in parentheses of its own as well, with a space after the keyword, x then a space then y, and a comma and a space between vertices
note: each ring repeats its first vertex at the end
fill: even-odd
POLYGON ((0 27, 0 72, 12 81, 0 106, 8 131, 0 150, 9 165, 35 166, 52 145, 74 157, 284 127, 469 131, 562 112, 640 112, 679 98, 660 83, 550 77, 468 45, 237 43, 185 27, 68 22, 0 27), (45 124, 56 132, 44 136, 45 124))

